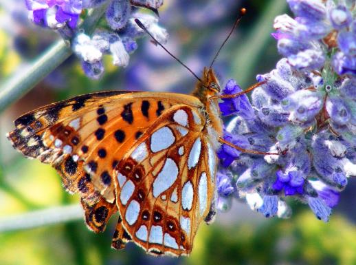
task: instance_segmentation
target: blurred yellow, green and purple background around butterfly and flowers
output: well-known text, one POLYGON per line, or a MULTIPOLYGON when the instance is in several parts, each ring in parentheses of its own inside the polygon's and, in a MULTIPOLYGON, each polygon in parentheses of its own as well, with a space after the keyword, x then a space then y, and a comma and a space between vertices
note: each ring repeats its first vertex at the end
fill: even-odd
MULTIPOLYGON (((214 68, 221 84, 229 78, 243 88, 254 84, 256 74, 269 72, 280 58, 270 34, 274 17, 288 12, 284 0, 166 0, 159 10, 160 23, 170 34, 166 47, 199 75, 242 7, 247 15, 214 68)), ((0 0, 0 83, 58 38, 28 21, 23 0, 0 0)), ((116 218, 103 234, 89 231, 78 210, 79 198, 63 190, 56 171, 26 160, 5 138, 17 116, 70 96, 110 89, 190 93, 194 83, 189 72, 146 38, 126 69, 114 67, 108 57, 100 81, 89 80, 78 59, 69 57, 1 113, 0 264, 356 264, 353 180, 327 224, 300 204, 292 204, 291 219, 278 220, 235 201, 230 211, 218 213, 214 224, 201 225, 190 257, 154 258, 135 244, 113 251, 116 218)))

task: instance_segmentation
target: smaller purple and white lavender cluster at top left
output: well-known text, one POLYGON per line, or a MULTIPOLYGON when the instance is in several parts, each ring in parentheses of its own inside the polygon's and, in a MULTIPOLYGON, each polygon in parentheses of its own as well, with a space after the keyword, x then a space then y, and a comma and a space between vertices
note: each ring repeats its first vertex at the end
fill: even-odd
POLYGON ((85 74, 98 79, 104 73, 102 58, 111 54, 113 65, 126 67, 129 54, 137 49, 135 39, 144 36, 135 19, 145 25, 155 38, 165 43, 168 34, 158 25, 157 9, 163 1, 149 0, 25 0, 30 17, 37 25, 58 30, 72 41, 74 52, 82 61, 85 74), (85 10, 105 7, 105 16, 98 23, 93 36, 78 29, 85 10), (140 8, 152 10, 153 14, 140 13, 140 8))

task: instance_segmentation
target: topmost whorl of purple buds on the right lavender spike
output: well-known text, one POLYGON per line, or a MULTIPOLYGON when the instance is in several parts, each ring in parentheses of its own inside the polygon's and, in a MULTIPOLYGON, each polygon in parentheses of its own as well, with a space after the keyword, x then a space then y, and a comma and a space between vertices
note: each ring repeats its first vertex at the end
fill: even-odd
POLYGON ((340 75, 356 75, 356 34, 353 29, 356 22, 353 22, 351 10, 341 3, 335 6, 329 1, 287 2, 296 19, 287 14, 276 17, 273 36, 278 40, 278 51, 287 57, 288 62, 297 70, 321 70, 330 54, 335 54, 333 43, 337 42, 333 69, 340 75))

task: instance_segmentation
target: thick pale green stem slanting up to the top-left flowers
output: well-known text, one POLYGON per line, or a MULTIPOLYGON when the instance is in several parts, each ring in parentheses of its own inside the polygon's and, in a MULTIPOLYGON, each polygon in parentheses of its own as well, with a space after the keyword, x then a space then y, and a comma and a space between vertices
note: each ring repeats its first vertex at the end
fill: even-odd
MULTIPOLYGON (((107 5, 102 5, 88 14, 80 26, 87 34, 91 34, 104 14, 107 5)), ((56 69, 72 54, 69 42, 62 39, 42 54, 36 61, 16 70, 7 81, 0 84, 0 113, 29 92, 36 84, 41 82, 49 73, 56 69)))

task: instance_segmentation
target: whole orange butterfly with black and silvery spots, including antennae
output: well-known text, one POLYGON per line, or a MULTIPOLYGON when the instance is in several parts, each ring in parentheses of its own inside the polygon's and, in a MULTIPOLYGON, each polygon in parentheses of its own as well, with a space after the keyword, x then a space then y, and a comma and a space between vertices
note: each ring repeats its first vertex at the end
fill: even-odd
POLYGON ((216 151, 221 143, 239 149, 222 138, 218 105, 239 94, 220 95, 211 66, 196 76, 192 95, 76 96, 17 118, 8 138, 27 158, 52 165, 65 189, 80 195, 89 229, 104 231, 119 213, 113 248, 132 241, 152 255, 188 255, 201 222, 216 214, 216 151))

